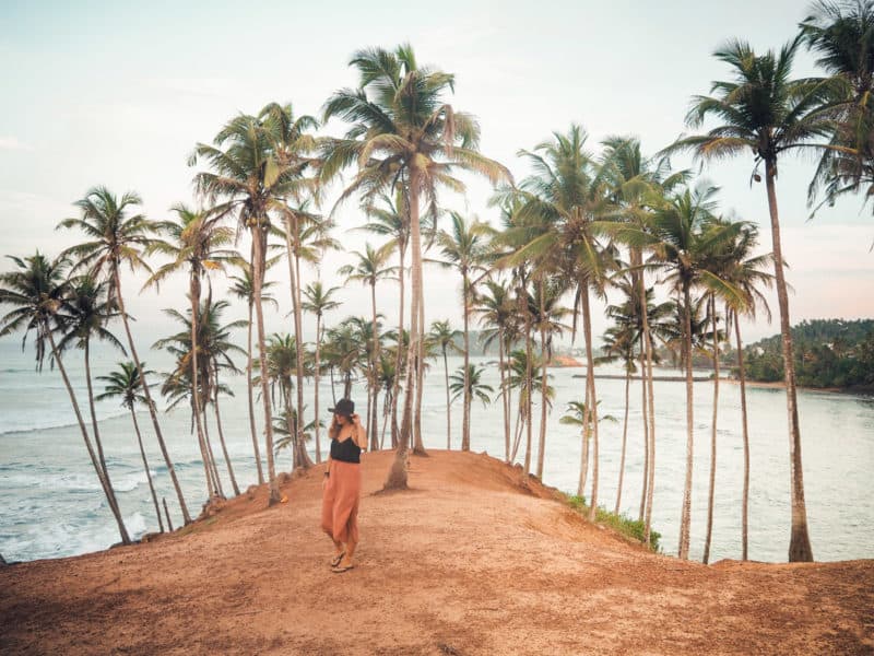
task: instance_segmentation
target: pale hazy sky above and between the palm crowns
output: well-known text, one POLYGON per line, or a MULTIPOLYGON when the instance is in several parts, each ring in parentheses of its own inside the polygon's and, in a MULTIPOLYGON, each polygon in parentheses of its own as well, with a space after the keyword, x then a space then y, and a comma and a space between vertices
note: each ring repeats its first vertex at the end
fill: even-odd
MULTIPOLYGON (((137 190, 152 219, 193 202, 187 155, 209 142, 238 112, 292 102, 296 114, 319 115, 331 92, 356 82, 347 67, 362 47, 391 48, 410 42, 420 63, 456 74, 457 109, 475 114, 482 151, 517 178, 527 171, 516 157, 570 122, 590 133, 589 145, 610 134, 636 134, 647 153, 684 131, 694 94, 729 70, 712 51, 741 37, 759 50, 779 48, 795 34, 805 2, 741 0, 707 2, 11 2, 0 3, 0 255, 56 255, 75 233, 55 232, 73 215, 71 203, 95 185, 121 195, 137 190)), ((814 73, 802 52, 798 77, 814 73)), ((340 124, 326 127, 338 133, 340 124)), ((688 161, 675 160, 677 167, 688 161)), ((770 250, 764 185, 749 186, 752 157, 708 166, 704 175, 721 188, 724 212, 761 229, 770 250)), ((780 167, 783 251, 791 266, 792 321, 874 316, 874 220, 861 198, 850 198, 813 221, 806 208, 812 160, 780 167)), ((446 204, 496 221, 486 207, 489 189, 472 181, 466 198, 446 204)), ((332 198, 326 203, 330 209, 332 198)), ((336 216, 336 236, 350 248, 364 237, 344 231, 361 225, 356 204, 336 216)), ((336 269, 350 256, 330 256, 320 274, 342 285, 336 269)), ((0 270, 10 267, 5 261, 0 270)), ((276 269, 283 303, 270 329, 291 330, 287 278, 276 269)), ((304 282, 316 272, 305 273, 304 282)), ((128 279, 129 312, 152 338, 168 324, 158 312, 186 303, 180 278, 137 295, 128 279)), ((460 285, 450 273, 426 270, 426 320, 460 326, 460 285)), ((333 323, 369 316, 369 296, 346 286, 333 323)), ((378 289, 392 324, 397 286, 378 289)), ((776 312, 776 301, 772 304, 776 312)), ((239 315, 245 309, 240 306, 239 315)), ((272 313, 272 311, 271 311, 272 313)), ((594 332, 606 327, 595 312, 594 332)), ((231 317, 228 317, 229 320, 231 317)), ((311 328, 307 329, 310 332, 311 328)), ((745 328, 746 341, 779 331, 777 321, 745 328)), ((145 337, 145 336, 143 336, 145 337)), ((243 337, 240 336, 240 339, 243 337)))

